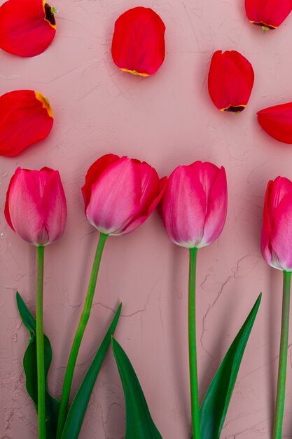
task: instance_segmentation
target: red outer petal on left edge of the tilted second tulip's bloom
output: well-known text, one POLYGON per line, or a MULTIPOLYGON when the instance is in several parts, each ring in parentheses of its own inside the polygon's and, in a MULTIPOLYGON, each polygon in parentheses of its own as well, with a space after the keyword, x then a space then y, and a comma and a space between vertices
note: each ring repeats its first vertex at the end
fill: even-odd
POLYGON ((90 168, 88 169, 88 173, 85 177, 85 184, 81 188, 84 199, 85 212, 88 207, 88 203, 90 202, 92 185, 97 182, 103 171, 109 165, 111 165, 111 163, 119 160, 119 158, 120 157, 116 156, 115 154, 106 154, 100 157, 97 161, 95 161, 95 163, 93 163, 92 166, 90 166, 90 168))

